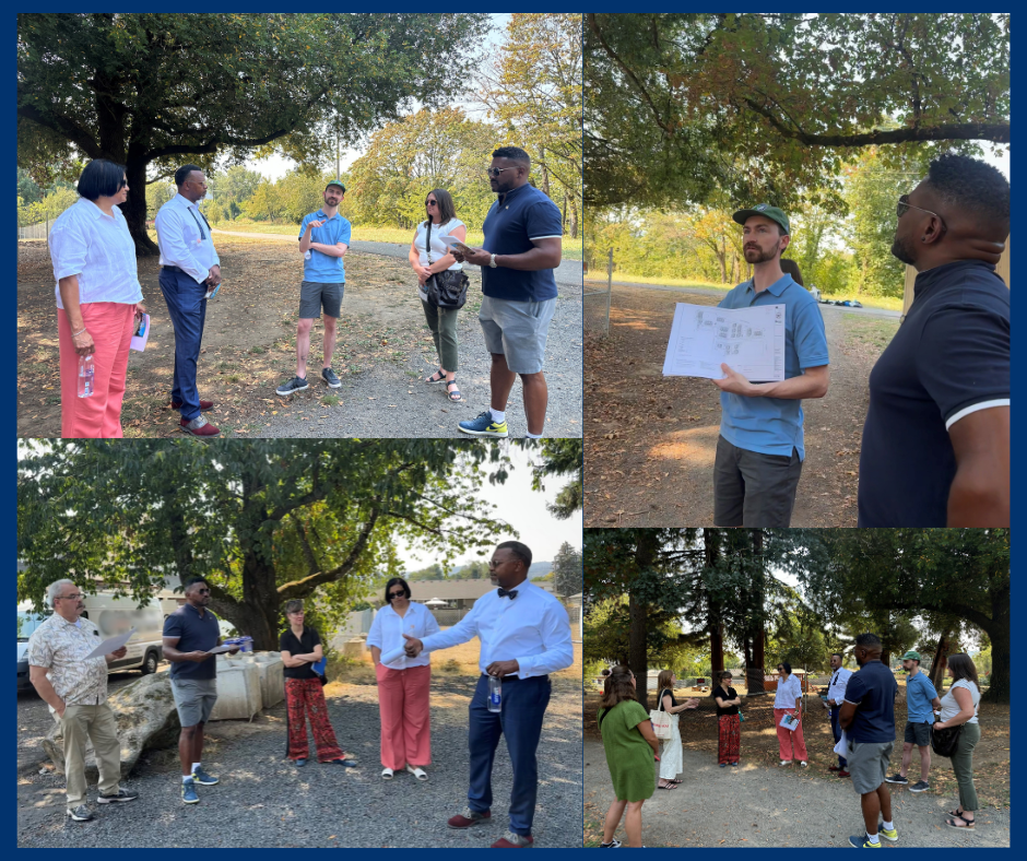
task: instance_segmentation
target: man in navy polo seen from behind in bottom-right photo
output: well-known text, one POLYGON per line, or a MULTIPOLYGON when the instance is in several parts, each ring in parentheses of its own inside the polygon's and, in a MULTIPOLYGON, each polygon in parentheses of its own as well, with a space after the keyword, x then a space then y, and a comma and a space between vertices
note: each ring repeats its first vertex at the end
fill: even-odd
POLYGON ((860 670, 846 685, 838 723, 846 732, 849 775, 860 793, 866 836, 849 842, 857 849, 881 847, 880 834, 895 842, 898 834, 892 821, 892 790, 885 780, 895 747, 895 696, 898 685, 892 671, 881 662, 882 644, 876 634, 855 638, 855 662, 860 670), (883 822, 878 821, 883 817, 883 822))

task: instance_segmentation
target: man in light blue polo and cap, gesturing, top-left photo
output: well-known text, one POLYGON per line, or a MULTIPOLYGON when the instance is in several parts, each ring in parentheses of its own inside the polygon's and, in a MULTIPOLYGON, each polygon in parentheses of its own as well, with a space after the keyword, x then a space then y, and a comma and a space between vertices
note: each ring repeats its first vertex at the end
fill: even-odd
POLYGON ((324 308, 324 362, 321 379, 332 389, 342 384, 332 370, 335 349, 335 320, 342 309, 346 273, 342 258, 350 248, 350 222, 339 214, 346 187, 338 179, 328 184, 324 205, 305 215, 299 225, 299 251, 303 253, 303 283, 299 285, 299 322, 296 326, 296 376, 274 390, 283 397, 304 391, 307 386, 307 355, 310 328, 324 308))

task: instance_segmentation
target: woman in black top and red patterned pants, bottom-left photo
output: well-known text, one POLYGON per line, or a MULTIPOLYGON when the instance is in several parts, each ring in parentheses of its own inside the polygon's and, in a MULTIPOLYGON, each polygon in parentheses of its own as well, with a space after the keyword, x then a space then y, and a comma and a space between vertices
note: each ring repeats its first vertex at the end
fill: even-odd
POLYGON ((290 601, 285 605, 288 629, 279 639, 282 661, 285 663, 285 715, 288 721, 288 752, 286 756, 297 766, 307 764, 307 718, 314 731, 319 763, 354 766, 335 741, 335 732, 328 719, 328 704, 321 691, 321 680, 312 664, 324 653, 321 637, 314 628, 303 624, 303 601, 290 601))

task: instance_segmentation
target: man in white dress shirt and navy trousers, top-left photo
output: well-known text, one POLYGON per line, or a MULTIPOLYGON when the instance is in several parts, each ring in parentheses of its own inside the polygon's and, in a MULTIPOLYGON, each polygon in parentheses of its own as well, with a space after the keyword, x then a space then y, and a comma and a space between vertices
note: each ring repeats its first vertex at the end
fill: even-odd
POLYGON ((221 284, 221 259, 214 250, 211 225, 197 203, 206 197, 206 177, 194 164, 175 172, 178 193, 157 213, 161 248, 161 291, 175 326, 175 381, 172 409, 181 413, 179 426, 193 436, 216 436, 219 428, 202 413, 213 401, 201 401, 197 391, 197 362, 208 293, 221 284))

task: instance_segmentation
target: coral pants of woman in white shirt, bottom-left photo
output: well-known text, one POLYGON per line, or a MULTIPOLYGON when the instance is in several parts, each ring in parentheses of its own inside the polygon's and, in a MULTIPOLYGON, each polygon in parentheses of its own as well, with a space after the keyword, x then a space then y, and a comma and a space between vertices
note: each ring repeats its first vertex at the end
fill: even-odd
POLYGON ((432 668, 390 670, 375 668, 378 676, 378 708, 381 711, 381 764, 398 771, 408 763, 432 763, 432 719, 428 695, 432 668))

